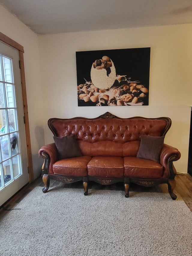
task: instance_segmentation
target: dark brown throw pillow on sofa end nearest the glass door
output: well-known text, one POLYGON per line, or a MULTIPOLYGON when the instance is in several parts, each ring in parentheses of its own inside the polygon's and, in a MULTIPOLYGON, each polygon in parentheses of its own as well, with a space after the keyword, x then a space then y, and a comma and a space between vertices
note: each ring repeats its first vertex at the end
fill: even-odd
POLYGON ((70 157, 82 156, 75 135, 55 137, 53 140, 57 147, 59 160, 70 157))

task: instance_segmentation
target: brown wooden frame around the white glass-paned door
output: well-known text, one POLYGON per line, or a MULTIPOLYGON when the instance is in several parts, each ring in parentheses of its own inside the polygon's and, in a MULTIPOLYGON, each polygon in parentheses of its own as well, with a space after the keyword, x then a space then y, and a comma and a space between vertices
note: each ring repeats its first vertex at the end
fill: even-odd
POLYGON ((24 120, 25 120, 25 133, 26 133, 26 147, 27 147, 27 160, 28 160, 28 173, 29 173, 29 183, 33 182, 33 163, 32 163, 32 151, 31 151, 31 139, 30 139, 30 131, 29 131, 29 115, 28 115, 28 107, 27 107, 27 93, 26 93, 26 81, 25 81, 25 69, 24 69, 24 59, 23 46, 7 37, 3 33, 0 32, 0 41, 13 47, 14 49, 19 51, 19 67, 21 74, 21 88, 22 88, 22 99, 23 99, 23 112, 24 112, 24 120))

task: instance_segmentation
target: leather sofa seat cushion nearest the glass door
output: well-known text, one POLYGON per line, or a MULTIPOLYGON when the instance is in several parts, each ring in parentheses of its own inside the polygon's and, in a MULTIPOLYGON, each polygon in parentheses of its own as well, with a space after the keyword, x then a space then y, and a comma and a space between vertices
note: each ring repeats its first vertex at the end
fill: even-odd
POLYGON ((91 156, 65 158, 53 164, 53 173, 70 176, 87 176, 87 164, 91 156))

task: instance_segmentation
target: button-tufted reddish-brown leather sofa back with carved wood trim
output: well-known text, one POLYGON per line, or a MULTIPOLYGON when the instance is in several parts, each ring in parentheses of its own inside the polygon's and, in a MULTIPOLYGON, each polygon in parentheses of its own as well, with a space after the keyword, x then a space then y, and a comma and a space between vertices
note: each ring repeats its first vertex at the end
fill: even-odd
POLYGON ((140 135, 165 135, 171 126, 171 119, 122 119, 107 112, 94 119, 51 118, 48 126, 57 137, 75 134, 83 155, 136 156, 140 135))

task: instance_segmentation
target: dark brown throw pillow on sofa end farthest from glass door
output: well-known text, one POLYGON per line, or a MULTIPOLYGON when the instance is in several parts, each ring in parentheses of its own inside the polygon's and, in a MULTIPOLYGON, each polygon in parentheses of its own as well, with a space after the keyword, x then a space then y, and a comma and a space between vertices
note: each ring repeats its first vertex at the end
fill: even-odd
POLYGON ((137 157, 160 162, 161 149, 165 136, 156 137, 150 135, 141 135, 141 143, 137 152, 137 157))

